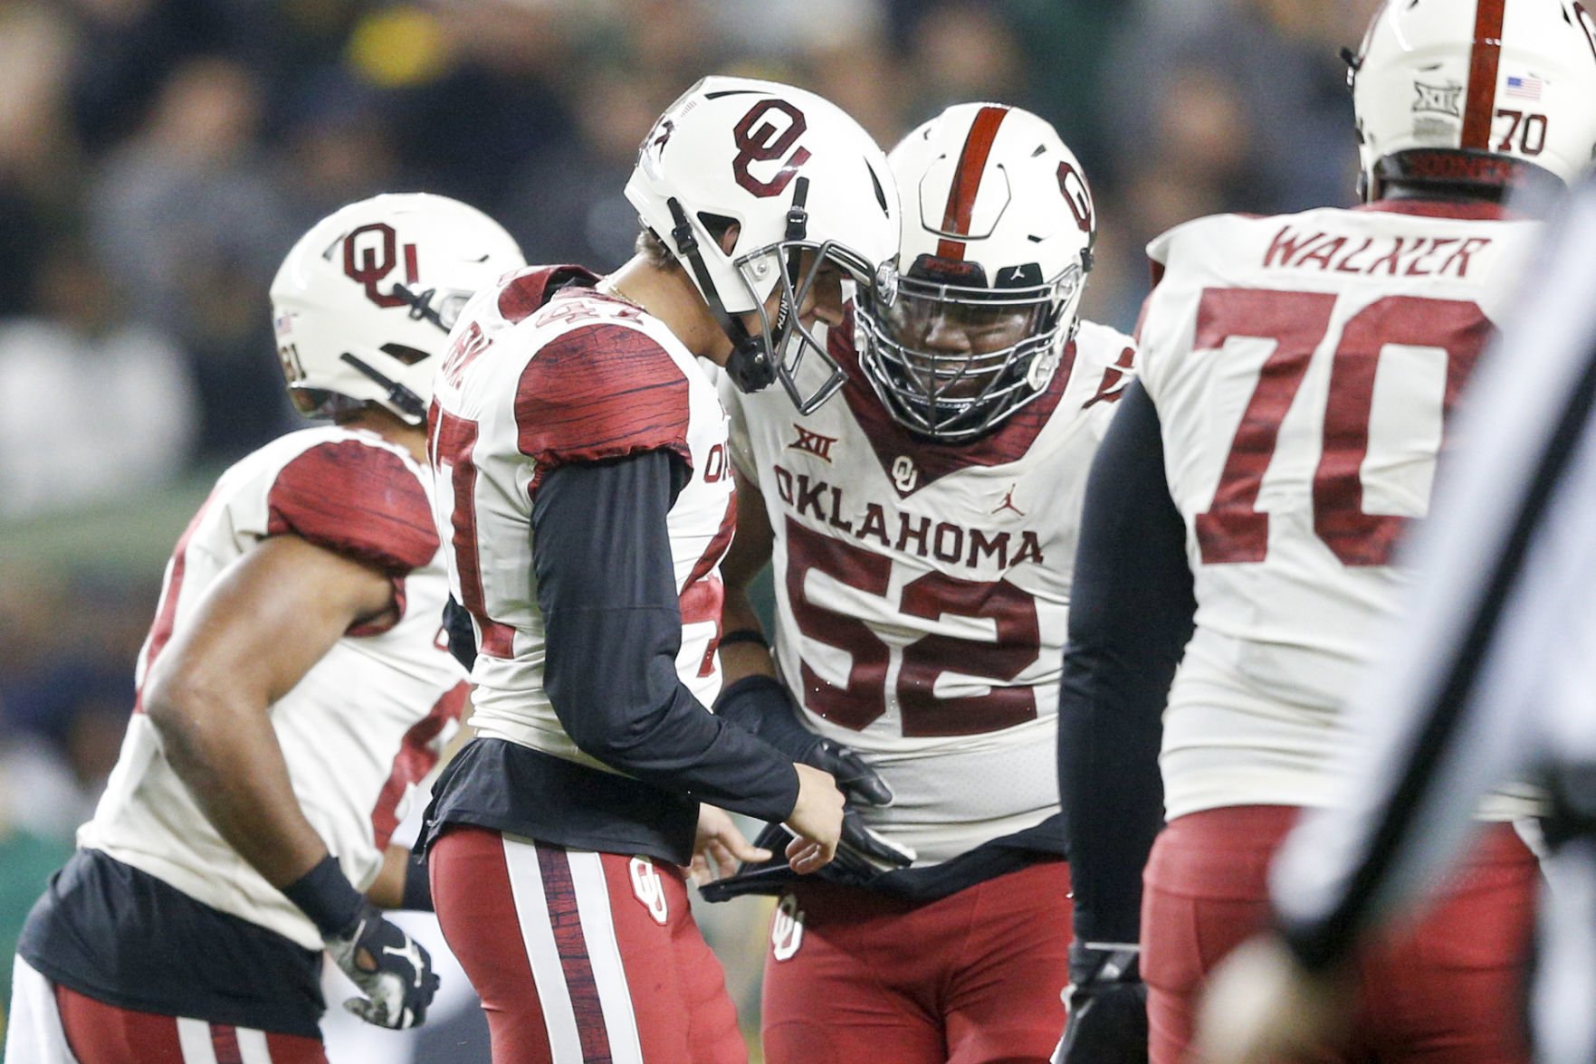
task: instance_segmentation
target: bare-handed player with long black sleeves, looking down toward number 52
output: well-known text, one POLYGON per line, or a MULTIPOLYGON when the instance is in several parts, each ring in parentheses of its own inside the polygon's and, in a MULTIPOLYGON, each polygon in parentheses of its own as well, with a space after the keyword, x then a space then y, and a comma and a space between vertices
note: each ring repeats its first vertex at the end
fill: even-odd
POLYGON ((480 294, 429 424, 477 646, 477 737, 434 791, 433 882, 501 1062, 744 1061, 681 866, 755 853, 715 806, 788 823, 806 869, 841 830, 828 774, 705 708, 736 507, 697 359, 806 408, 835 391, 806 370, 844 282, 891 276, 886 158, 812 93, 715 77, 659 116, 626 195, 637 255, 480 294))

